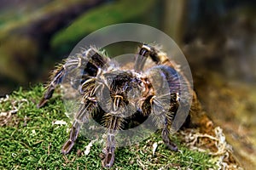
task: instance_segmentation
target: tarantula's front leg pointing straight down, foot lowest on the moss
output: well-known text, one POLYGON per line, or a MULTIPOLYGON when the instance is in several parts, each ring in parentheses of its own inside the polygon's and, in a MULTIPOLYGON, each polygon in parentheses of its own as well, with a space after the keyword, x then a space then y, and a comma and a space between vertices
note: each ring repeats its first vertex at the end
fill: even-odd
POLYGON ((105 124, 108 128, 108 134, 107 134, 106 147, 103 150, 105 157, 104 157, 102 164, 104 167, 112 167, 113 166, 114 150, 116 148, 115 134, 117 133, 116 131, 120 129, 123 121, 124 120, 122 117, 111 116, 110 114, 106 115, 105 124))

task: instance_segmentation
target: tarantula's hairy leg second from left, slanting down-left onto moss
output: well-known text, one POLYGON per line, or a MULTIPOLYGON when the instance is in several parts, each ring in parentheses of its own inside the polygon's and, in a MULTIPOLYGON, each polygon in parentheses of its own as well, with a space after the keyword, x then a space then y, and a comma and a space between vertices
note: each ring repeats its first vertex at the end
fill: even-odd
POLYGON ((80 127, 82 126, 82 124, 88 122, 90 113, 96 107, 95 103, 90 100, 84 103, 85 104, 82 104, 80 106, 79 112, 75 116, 71 131, 69 134, 69 139, 67 139, 67 142, 62 146, 61 153, 64 155, 66 155, 73 148, 73 144, 75 143, 75 140, 79 136, 80 127))

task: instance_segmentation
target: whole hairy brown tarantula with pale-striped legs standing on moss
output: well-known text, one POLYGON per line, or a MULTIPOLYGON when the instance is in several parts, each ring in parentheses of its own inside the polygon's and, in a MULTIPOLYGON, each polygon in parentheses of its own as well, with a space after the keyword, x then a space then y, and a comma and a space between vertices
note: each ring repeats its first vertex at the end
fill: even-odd
MULTIPOLYGON (((71 81, 80 94, 79 111, 74 115, 69 139, 63 144, 61 152, 67 154, 79 136, 80 128, 88 119, 100 115, 102 126, 107 130, 107 141, 104 148, 104 167, 112 167, 115 135, 122 130, 125 123, 134 118, 131 113, 141 116, 153 116, 157 127, 161 129, 161 137, 165 144, 177 151, 172 143, 172 122, 181 106, 188 106, 189 101, 181 98, 182 88, 186 88, 183 96, 193 91, 186 77, 175 67, 159 47, 142 44, 138 49, 134 66, 131 69, 113 65, 112 59, 94 47, 65 60, 63 65, 53 71, 43 99, 38 104, 42 107, 52 97, 54 90, 69 72, 80 72, 79 82, 71 81), (148 67, 146 60, 153 61, 148 67), (162 92, 163 88, 168 92, 162 92), (181 85, 185 84, 183 87, 181 85), (107 94, 107 95, 105 95, 107 94)), ((136 117, 136 116, 135 116, 136 117)))

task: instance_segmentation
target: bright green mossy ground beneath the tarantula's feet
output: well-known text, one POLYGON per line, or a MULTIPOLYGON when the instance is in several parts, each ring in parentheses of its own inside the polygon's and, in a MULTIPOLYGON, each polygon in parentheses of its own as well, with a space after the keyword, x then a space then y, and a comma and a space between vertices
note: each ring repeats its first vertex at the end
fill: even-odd
MULTIPOLYGON (((102 169, 102 146, 96 141, 90 153, 84 150, 90 140, 79 136, 71 153, 61 154, 61 146, 71 126, 65 116, 61 96, 55 94, 41 109, 37 103, 43 95, 42 85, 20 90, 0 99, 0 169, 102 169), (55 124, 55 121, 68 122, 55 124)), ((113 169, 215 169, 207 152, 189 150, 180 136, 174 135, 179 151, 163 144, 160 133, 139 144, 118 148, 113 169), (157 149, 153 155, 153 145, 157 149)))

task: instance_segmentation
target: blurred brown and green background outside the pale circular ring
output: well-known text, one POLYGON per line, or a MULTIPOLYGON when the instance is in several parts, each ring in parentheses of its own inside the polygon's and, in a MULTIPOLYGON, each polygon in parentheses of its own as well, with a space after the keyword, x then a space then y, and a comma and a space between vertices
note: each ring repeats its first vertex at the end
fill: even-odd
POLYGON ((204 110, 242 166, 256 167, 254 0, 0 0, 0 96, 46 82, 83 37, 122 22, 177 42, 204 110))

